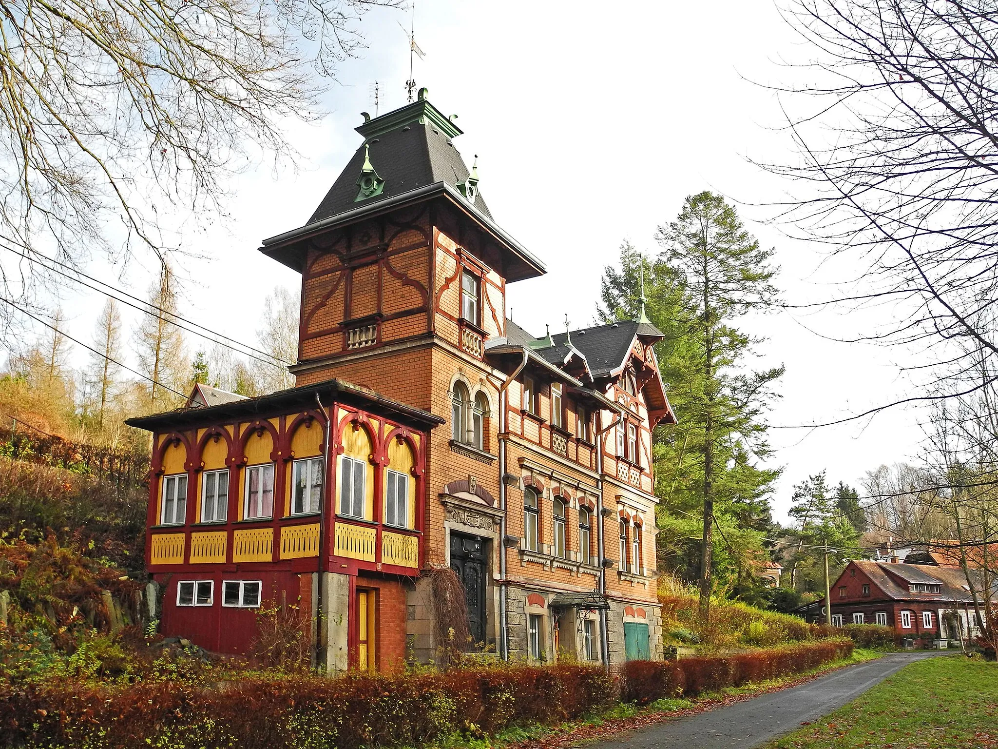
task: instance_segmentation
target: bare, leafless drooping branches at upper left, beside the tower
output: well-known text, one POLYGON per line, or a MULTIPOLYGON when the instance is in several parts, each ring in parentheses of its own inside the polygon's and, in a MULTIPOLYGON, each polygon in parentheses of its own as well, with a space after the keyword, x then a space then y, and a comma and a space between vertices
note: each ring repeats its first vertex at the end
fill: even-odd
POLYGON ((291 155, 281 125, 317 115, 315 74, 397 4, 0 0, 0 244, 82 262, 123 227, 162 253, 164 212, 197 216, 260 151, 291 155))

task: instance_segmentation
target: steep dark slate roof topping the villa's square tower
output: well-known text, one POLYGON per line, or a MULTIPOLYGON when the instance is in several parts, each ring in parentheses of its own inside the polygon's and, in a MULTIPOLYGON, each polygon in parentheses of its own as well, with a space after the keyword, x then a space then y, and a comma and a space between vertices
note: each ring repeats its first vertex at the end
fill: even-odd
MULTIPOLYGON (((435 108, 432 112, 430 108, 432 105, 429 102, 413 102, 357 128, 357 132, 365 137, 364 143, 360 144, 307 223, 313 224, 427 185, 444 182, 456 188, 457 183, 467 179, 468 167, 453 142, 453 137, 461 131, 439 115, 435 108), (385 132, 386 128, 390 129, 385 132), (355 202, 365 144, 369 147, 374 171, 384 180, 384 190, 378 196, 355 202)), ((481 195, 471 205, 478 213, 492 219, 481 195)))

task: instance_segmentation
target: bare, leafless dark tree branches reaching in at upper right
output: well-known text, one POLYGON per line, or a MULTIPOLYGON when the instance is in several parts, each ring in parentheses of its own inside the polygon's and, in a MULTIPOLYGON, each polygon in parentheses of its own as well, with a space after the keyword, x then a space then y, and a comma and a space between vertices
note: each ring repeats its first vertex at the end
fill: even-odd
MULTIPOLYGON (((859 276, 836 301, 888 312, 891 322, 860 338, 917 350, 906 369, 921 375, 920 384, 934 387, 981 358, 994 360, 994 3, 795 0, 784 17, 809 43, 801 67, 811 83, 780 89, 802 157, 764 165, 795 181, 796 199, 782 219, 844 256, 859 276)), ((916 392, 898 402, 960 391, 916 392)))

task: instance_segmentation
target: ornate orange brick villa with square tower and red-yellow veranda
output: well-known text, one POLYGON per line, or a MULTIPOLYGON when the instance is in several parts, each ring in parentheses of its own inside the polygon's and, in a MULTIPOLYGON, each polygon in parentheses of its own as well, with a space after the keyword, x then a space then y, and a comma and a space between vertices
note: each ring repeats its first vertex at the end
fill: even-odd
POLYGON ((450 567, 500 657, 661 657, 662 334, 507 320, 506 285, 545 269, 493 220, 461 130, 425 89, 364 117, 307 224, 260 248, 301 275, 296 386, 201 386, 130 420, 154 435, 162 630, 241 653, 262 601, 299 603, 320 663, 391 670, 435 657, 427 572, 450 567))

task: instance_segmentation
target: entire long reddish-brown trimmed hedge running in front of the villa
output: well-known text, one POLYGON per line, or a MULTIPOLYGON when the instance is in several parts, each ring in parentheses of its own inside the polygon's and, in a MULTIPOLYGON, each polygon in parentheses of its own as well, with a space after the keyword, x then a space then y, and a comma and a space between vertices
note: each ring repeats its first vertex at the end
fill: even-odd
POLYGON ((574 719, 622 696, 641 704, 695 696, 803 671, 851 651, 850 640, 824 640, 728 658, 632 661, 623 669, 623 683, 599 666, 566 664, 211 685, 0 684, 0 746, 417 746, 455 731, 480 736, 523 723, 574 719))

